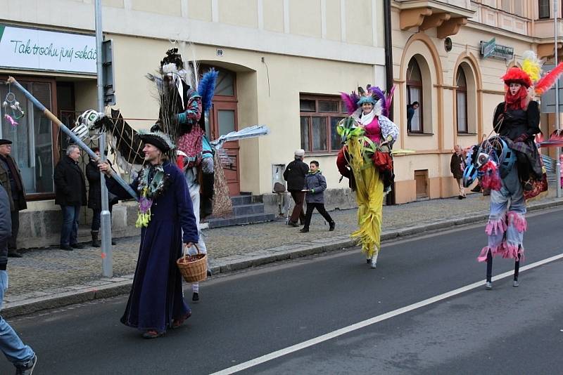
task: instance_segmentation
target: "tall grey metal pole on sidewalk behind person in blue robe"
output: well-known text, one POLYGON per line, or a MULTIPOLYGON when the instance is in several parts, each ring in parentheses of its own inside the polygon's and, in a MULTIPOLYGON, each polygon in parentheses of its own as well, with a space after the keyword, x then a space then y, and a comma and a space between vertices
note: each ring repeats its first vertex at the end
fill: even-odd
MULTIPOLYGON (((103 67, 101 42, 102 23, 101 23, 101 0, 96 0, 96 65, 98 72, 98 111, 105 112, 106 105, 103 103, 103 67)), ((101 162, 106 162, 106 133, 99 138, 101 162)), ((106 177, 100 173, 101 184, 101 273, 103 277, 113 277, 113 251, 111 249, 111 213, 109 211, 108 187, 106 187, 106 177)))

